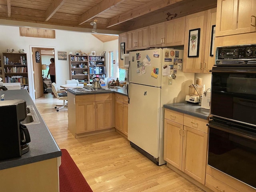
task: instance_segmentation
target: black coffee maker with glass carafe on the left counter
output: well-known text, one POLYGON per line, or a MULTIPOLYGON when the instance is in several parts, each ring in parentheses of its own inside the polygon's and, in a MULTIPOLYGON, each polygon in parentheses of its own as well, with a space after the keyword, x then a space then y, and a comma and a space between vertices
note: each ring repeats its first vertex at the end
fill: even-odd
POLYGON ((30 135, 20 123, 26 117, 25 100, 0 101, 0 160, 20 157, 29 151, 30 135))

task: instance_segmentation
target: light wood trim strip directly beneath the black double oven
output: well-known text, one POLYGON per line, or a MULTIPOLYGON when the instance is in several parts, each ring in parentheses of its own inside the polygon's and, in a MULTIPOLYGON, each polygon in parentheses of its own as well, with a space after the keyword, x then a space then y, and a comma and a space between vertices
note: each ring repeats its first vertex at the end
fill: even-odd
POLYGON ((206 174, 209 174, 210 176, 216 178, 217 180, 220 180, 221 182, 228 184, 228 186, 231 186, 232 188, 235 188, 239 192, 255 192, 256 190, 249 187, 246 184, 243 184, 242 182, 239 182, 238 180, 235 180, 234 178, 227 176, 226 174, 223 174, 222 172, 215 170, 211 168, 210 166, 206 166, 206 174))

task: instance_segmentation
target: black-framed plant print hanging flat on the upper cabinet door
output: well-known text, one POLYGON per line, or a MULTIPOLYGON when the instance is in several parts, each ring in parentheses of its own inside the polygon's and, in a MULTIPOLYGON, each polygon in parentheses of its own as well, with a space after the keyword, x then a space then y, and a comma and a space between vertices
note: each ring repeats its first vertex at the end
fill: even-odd
POLYGON ((188 57, 199 56, 200 28, 191 29, 188 33, 188 57))

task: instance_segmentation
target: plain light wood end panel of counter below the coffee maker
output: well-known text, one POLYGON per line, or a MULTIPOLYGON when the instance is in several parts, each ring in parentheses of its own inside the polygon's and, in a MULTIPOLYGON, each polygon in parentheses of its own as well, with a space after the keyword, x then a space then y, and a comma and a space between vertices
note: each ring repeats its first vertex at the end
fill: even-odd
POLYGON ((2 192, 58 192, 58 184, 57 158, 0 170, 2 192))

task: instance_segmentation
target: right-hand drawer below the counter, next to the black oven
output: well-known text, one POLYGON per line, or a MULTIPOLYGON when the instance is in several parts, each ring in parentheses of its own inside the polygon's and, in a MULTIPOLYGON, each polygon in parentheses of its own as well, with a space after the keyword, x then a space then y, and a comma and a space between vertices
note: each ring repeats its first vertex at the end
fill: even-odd
POLYGON ((184 125, 208 133, 208 120, 184 114, 184 125))

